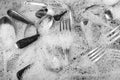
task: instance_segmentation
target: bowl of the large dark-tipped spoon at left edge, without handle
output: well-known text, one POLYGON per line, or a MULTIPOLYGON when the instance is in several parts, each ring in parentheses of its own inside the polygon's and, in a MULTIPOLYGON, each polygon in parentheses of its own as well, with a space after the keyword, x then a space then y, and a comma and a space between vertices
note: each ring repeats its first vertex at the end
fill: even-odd
POLYGON ((10 48, 16 38, 15 27, 12 21, 6 16, 0 19, 0 37, 6 48, 10 48))

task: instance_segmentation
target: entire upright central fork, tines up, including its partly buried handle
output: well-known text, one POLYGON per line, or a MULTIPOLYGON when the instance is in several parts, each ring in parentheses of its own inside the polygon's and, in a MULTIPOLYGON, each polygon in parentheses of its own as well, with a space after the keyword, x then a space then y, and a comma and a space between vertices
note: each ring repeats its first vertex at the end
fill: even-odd
POLYGON ((63 48, 64 56, 65 56, 65 64, 69 63, 69 47, 72 43, 72 35, 71 35, 71 20, 70 19, 63 19, 60 20, 60 36, 59 36, 59 41, 60 45, 63 48))

